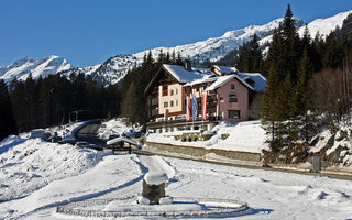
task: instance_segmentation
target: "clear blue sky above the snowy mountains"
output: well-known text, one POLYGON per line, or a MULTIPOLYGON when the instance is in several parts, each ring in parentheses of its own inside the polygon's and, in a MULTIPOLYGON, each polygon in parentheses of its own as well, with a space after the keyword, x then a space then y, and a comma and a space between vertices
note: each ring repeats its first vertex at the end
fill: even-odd
POLYGON ((351 0, 1 0, 0 66, 55 54, 76 67, 118 54, 176 46, 284 16, 310 22, 351 0))

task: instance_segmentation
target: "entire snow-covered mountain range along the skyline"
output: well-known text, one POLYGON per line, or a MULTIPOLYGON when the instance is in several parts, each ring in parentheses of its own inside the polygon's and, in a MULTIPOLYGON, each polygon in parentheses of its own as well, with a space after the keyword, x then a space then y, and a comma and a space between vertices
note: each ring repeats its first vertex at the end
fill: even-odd
MULTIPOLYGON (((339 13, 334 16, 327 19, 317 19, 308 24, 309 32, 314 37, 318 32, 322 35, 328 35, 336 26, 342 26, 343 20, 352 11, 339 13)), ((273 31, 278 28, 283 22, 282 19, 276 19, 264 25, 251 25, 244 29, 226 32, 222 36, 211 37, 206 41, 196 42, 193 44, 185 44, 175 47, 157 47, 152 50, 142 51, 131 55, 118 55, 107 59, 103 64, 95 66, 73 68, 73 66, 64 58, 58 56, 50 56, 41 61, 33 61, 28 57, 19 59, 9 66, 0 67, 0 79, 10 81, 13 77, 18 79, 25 79, 29 74, 32 74, 33 78, 38 76, 46 76, 48 74, 55 74, 62 72, 65 75, 69 75, 72 70, 81 72, 86 75, 90 75, 94 79, 103 85, 117 84, 123 79, 129 69, 140 65, 143 62, 143 57, 148 52, 152 53, 154 58, 157 58, 161 52, 180 53, 184 58, 190 58, 198 61, 199 63, 211 61, 216 62, 224 57, 229 52, 239 48, 244 42, 252 38, 255 33, 260 38, 260 43, 263 45, 271 42, 273 31)), ((296 19, 296 25, 299 29, 298 33, 302 35, 305 26, 300 19, 296 19)))

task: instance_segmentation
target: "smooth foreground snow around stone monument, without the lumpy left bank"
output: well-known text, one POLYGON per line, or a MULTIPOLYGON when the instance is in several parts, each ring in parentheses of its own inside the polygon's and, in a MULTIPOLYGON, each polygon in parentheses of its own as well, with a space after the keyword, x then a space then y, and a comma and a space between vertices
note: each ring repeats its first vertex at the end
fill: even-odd
MULTIPOLYGON (((73 219, 55 213, 56 206, 95 198, 138 198, 147 172, 145 167, 170 173, 167 195, 248 202, 253 213, 235 219, 346 219, 352 216, 352 183, 348 180, 135 155, 106 155, 86 173, 52 182, 25 198, 2 204, 0 213, 4 218, 29 213, 25 219, 73 219)), ((100 208, 119 209, 113 204, 100 208)))

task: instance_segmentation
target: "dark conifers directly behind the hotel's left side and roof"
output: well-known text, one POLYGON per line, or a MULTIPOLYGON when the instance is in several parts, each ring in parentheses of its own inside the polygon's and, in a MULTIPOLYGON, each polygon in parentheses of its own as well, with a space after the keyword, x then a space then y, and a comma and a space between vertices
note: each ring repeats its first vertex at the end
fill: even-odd
POLYGON ((122 116, 130 119, 131 123, 145 123, 147 121, 147 106, 144 90, 151 79, 155 76, 162 64, 176 64, 183 65, 180 54, 166 53, 161 51, 156 61, 150 52, 144 55, 144 59, 141 66, 130 70, 123 79, 122 91, 122 116))

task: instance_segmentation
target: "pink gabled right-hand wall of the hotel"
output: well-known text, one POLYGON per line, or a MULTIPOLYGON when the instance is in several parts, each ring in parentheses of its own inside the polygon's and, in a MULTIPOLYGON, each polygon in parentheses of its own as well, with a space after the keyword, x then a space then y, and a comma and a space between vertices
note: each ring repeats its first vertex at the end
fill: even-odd
POLYGON ((238 79, 233 78, 217 89, 219 97, 223 97, 220 101, 220 111, 223 112, 224 120, 228 121, 245 121, 249 119, 249 89, 238 79), (231 89, 234 84, 235 89, 231 89), (237 95, 238 102, 230 102, 229 95, 237 95), (229 119, 228 110, 240 110, 240 119, 229 119))

